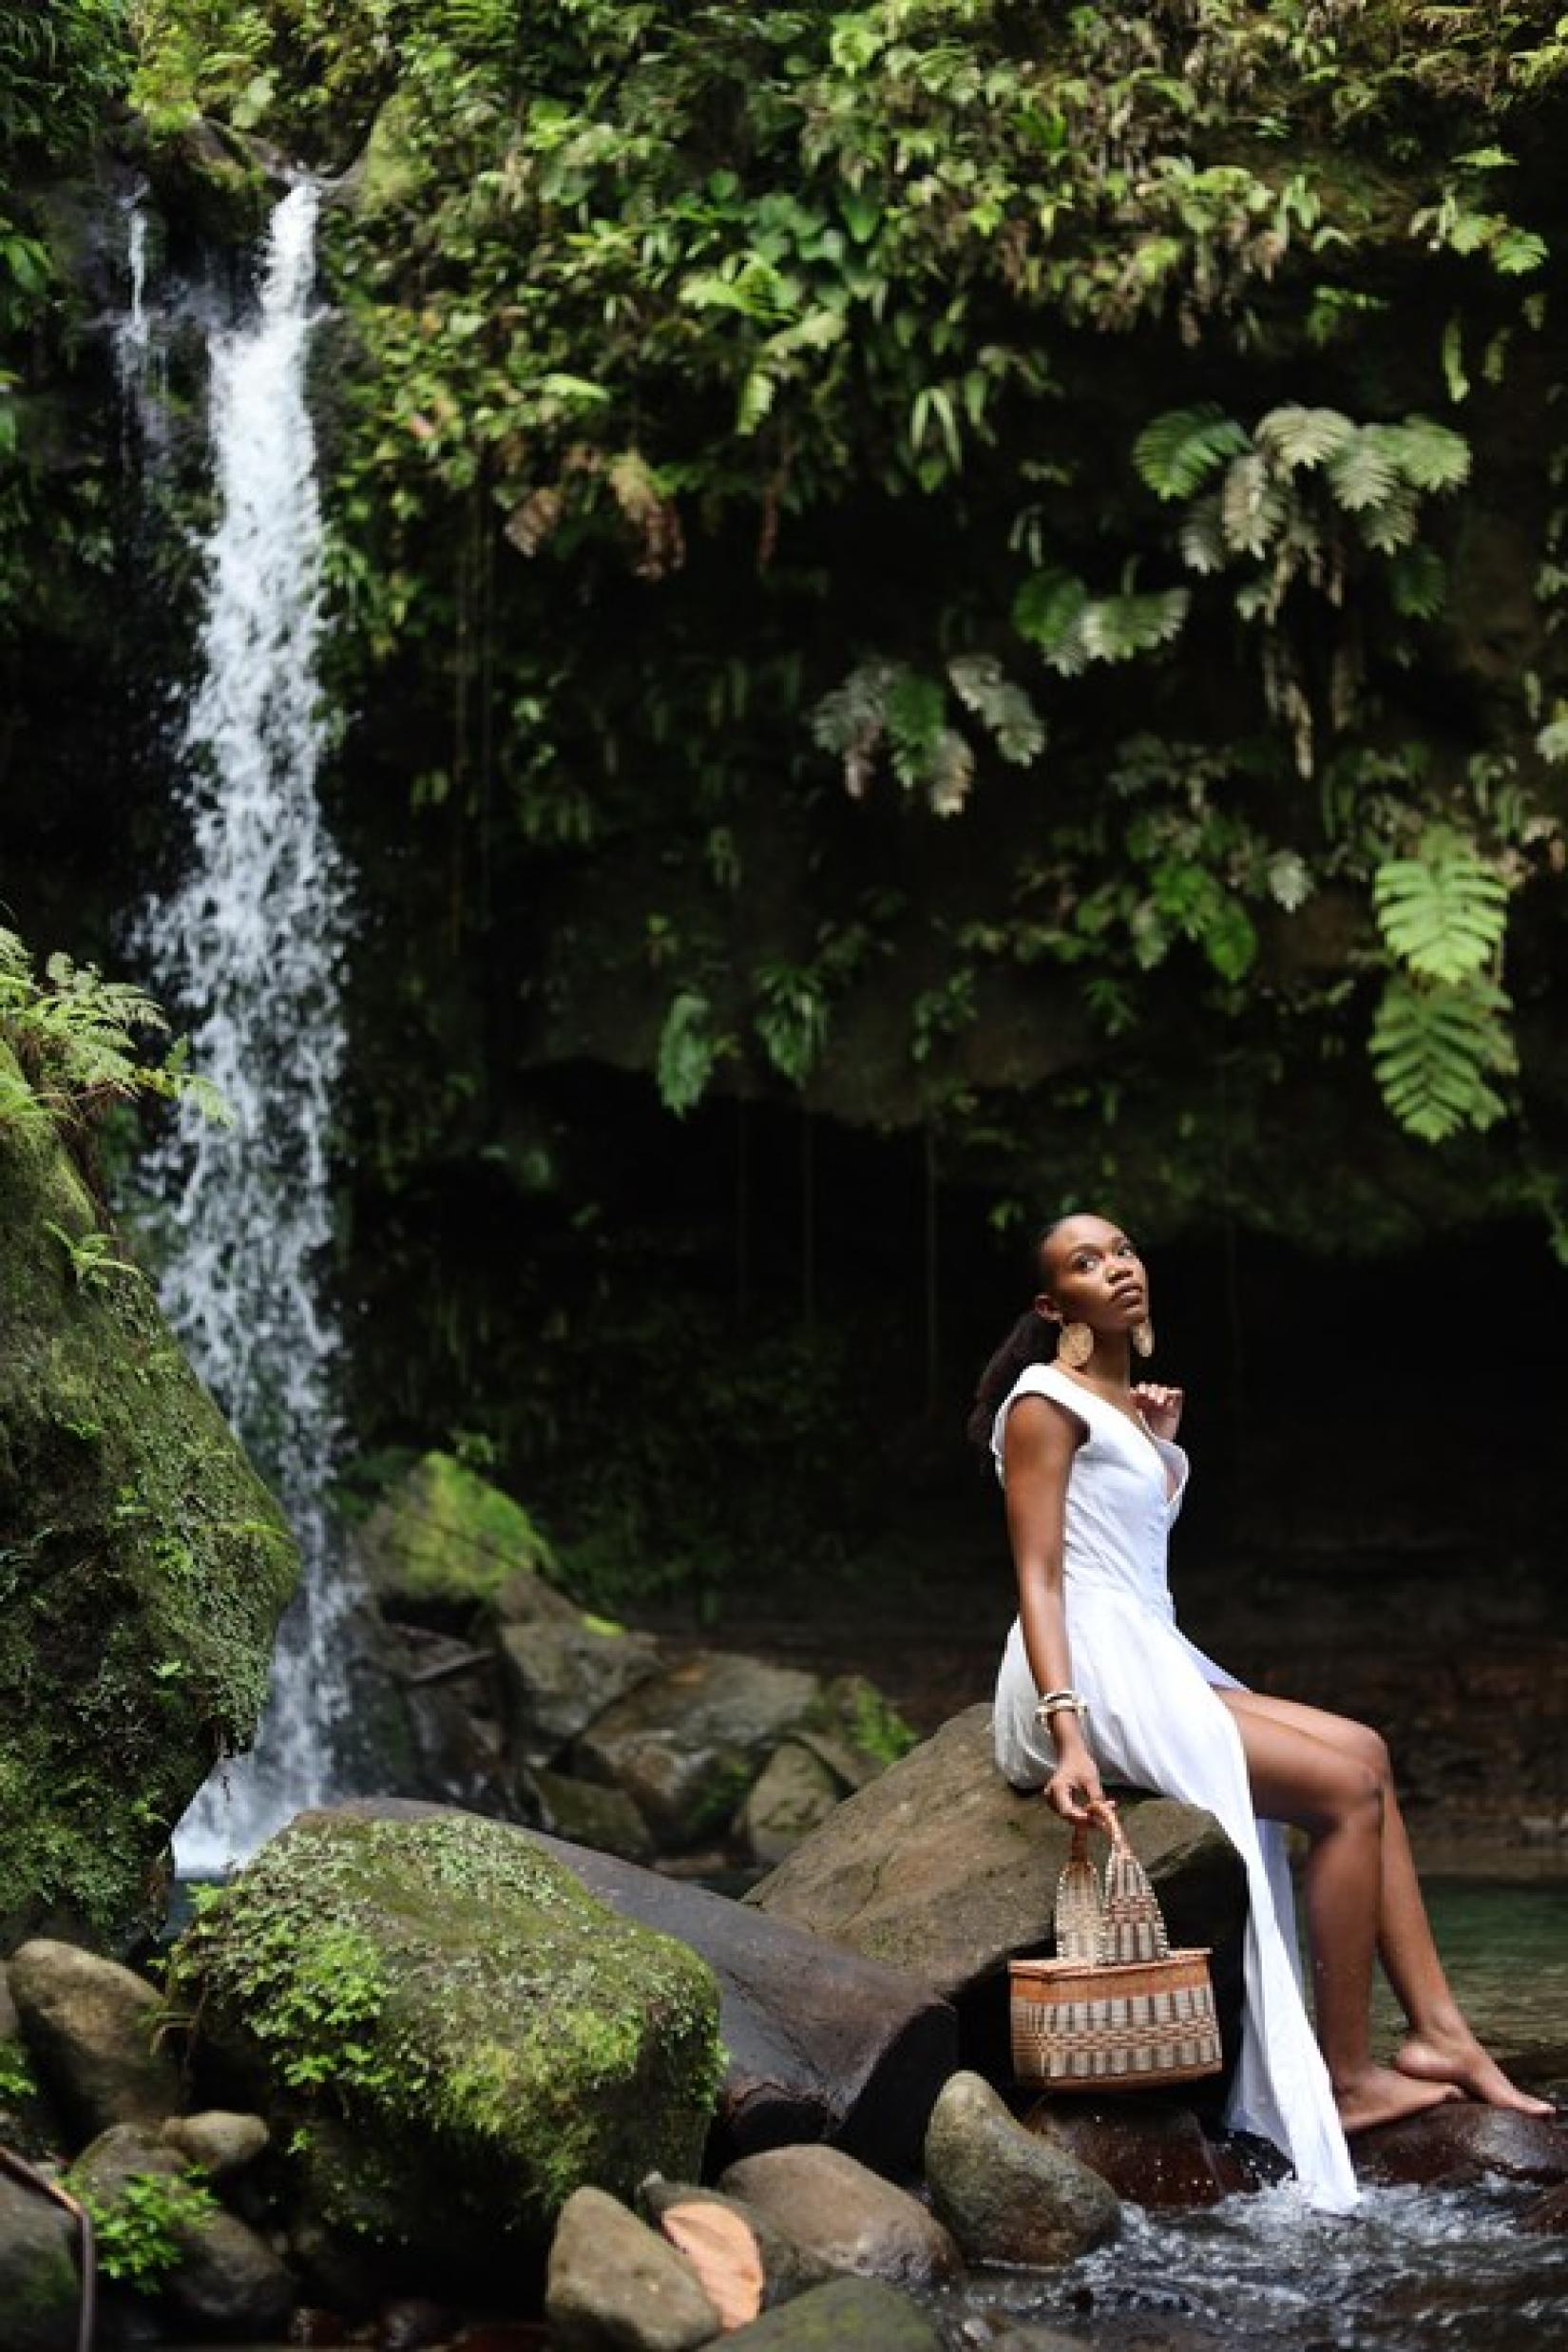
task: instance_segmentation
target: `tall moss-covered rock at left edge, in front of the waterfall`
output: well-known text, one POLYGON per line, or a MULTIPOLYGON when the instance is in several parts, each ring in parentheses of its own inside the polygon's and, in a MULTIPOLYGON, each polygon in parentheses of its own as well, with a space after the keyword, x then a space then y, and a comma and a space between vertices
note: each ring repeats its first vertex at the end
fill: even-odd
POLYGON ((299 1557, 42 1122, 0 1124, 0 1945, 120 1943, 254 1738, 299 1557))

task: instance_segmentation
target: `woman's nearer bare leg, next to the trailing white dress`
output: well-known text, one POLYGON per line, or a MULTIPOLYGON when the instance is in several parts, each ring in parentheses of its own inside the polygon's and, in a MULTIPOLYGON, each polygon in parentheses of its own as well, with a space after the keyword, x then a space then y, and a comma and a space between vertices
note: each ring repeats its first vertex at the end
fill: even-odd
MULTIPOLYGON (((1234 1700, 1237 1691, 1218 1691, 1234 1700)), ((1253 1806, 1312 1837, 1305 1870, 1316 2034, 1345 2131, 1392 2124, 1453 2098, 1371 2053, 1373 1947, 1382 1877, 1382 1783, 1371 1764, 1298 1724, 1232 1708, 1253 1806)))

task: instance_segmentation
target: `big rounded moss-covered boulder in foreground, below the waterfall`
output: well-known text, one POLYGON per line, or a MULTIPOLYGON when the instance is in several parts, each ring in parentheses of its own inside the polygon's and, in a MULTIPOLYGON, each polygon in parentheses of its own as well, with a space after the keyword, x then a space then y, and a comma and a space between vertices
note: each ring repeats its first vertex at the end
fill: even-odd
POLYGON ((296 2220, 404 2274, 496 2274, 576 2187, 693 2178, 722 2077, 708 1964, 480 1816, 301 1813, 169 1990, 289 2147, 296 2220))

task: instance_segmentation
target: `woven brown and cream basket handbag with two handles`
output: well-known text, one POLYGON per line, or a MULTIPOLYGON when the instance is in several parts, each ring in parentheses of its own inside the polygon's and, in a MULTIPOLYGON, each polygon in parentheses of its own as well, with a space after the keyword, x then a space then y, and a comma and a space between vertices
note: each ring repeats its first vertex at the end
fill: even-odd
POLYGON ((1074 1825, 1056 1886, 1056 1959, 1009 1964, 1013 2074, 1039 2091, 1152 2091, 1222 2065, 1208 1947, 1173 1952, 1114 1804, 1105 1886, 1074 1825))

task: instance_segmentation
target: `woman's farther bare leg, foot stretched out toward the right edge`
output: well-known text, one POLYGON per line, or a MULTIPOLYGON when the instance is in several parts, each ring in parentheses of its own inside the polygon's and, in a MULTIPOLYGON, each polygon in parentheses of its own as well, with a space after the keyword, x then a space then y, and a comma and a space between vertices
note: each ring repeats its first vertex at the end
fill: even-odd
POLYGON ((1260 1691, 1218 1691, 1237 1722, 1244 1717, 1281 1724, 1335 1748, 1378 1776, 1382 1790, 1382 1867, 1378 1882, 1378 1957, 1394 1997, 1410 2020, 1410 2034, 1394 2065, 1418 2082, 1453 2082, 1490 2107, 1519 2107, 1523 2114, 1552 2114, 1552 2103, 1519 2091, 1490 2058, 1460 2013, 1453 1997, 1432 1922, 1422 1900, 1410 1837, 1406 1832, 1389 1752, 1371 1724, 1326 1708, 1307 1708, 1293 1698, 1265 1698, 1260 1691))

